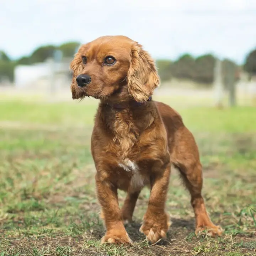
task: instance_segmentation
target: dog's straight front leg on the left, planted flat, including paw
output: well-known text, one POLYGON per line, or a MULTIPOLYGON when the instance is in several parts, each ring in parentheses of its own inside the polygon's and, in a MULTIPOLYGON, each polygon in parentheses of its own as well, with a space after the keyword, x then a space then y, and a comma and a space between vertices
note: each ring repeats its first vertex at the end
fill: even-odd
POLYGON ((105 221, 107 232, 101 242, 116 244, 131 244, 122 221, 121 210, 118 205, 117 188, 111 183, 102 181, 100 175, 96 175, 97 196, 101 204, 102 218, 105 221))

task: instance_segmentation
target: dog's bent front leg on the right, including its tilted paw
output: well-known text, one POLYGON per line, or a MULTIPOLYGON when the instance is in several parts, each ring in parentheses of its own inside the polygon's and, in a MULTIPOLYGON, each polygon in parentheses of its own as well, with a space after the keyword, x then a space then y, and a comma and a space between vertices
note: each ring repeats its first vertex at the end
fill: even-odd
MULTIPOLYGON (((169 157, 169 156, 168 156, 169 157)), ((164 166, 153 168, 151 174, 151 192, 148 209, 143 217, 140 231, 151 243, 166 238, 169 228, 169 216, 165 213, 165 201, 170 177, 170 162, 164 166)))

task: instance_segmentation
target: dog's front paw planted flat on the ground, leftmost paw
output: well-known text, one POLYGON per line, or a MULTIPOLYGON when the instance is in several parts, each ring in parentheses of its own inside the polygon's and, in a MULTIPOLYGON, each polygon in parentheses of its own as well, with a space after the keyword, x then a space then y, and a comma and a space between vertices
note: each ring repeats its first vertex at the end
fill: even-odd
POLYGON ((107 231, 105 236, 101 239, 101 243, 109 244, 132 244, 132 240, 126 232, 120 232, 119 230, 107 231))

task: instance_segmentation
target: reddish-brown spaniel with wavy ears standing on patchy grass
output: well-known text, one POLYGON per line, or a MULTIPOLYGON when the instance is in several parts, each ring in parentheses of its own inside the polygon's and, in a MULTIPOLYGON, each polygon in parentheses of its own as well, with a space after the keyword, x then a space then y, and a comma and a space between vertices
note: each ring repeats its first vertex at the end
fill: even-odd
POLYGON ((171 164, 191 194, 195 233, 221 235, 206 211, 202 166, 196 142, 180 114, 152 100, 160 79, 142 45, 125 36, 103 36, 82 45, 70 64, 73 99, 100 100, 91 136, 96 190, 106 227, 102 242, 130 244, 124 223, 132 222, 139 193, 150 187, 140 231, 149 242, 165 239, 165 212, 171 164), (127 192, 122 209, 117 190, 127 192))

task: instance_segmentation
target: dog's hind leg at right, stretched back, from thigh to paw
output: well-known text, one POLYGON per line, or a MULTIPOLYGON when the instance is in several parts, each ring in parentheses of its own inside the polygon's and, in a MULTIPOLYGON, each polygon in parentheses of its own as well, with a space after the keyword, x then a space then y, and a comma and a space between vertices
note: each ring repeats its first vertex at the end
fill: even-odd
POLYGON ((191 194, 191 205, 196 217, 195 233, 198 234, 207 230, 209 235, 221 235, 223 230, 220 226, 215 226, 211 222, 201 194, 203 186, 202 165, 194 137, 187 128, 184 128, 179 133, 179 138, 176 141, 179 141, 179 143, 175 146, 171 161, 178 167, 191 194))

